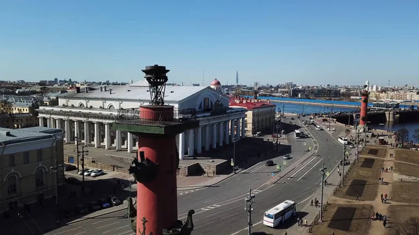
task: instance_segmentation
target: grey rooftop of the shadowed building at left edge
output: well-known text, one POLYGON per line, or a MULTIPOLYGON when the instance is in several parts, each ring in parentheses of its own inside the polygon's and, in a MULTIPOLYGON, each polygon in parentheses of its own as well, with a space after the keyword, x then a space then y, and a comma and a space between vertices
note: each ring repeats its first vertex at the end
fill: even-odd
POLYGON ((0 143, 8 145, 39 139, 54 139, 52 134, 59 132, 62 132, 62 130, 42 126, 22 129, 0 128, 0 143))

